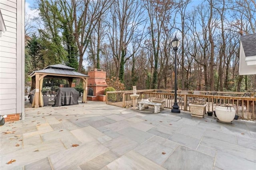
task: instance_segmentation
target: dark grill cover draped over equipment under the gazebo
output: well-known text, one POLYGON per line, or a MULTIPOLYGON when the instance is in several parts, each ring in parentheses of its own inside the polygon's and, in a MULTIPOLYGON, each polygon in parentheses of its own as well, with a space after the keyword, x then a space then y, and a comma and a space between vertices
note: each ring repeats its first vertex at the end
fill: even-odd
POLYGON ((59 88, 52 107, 78 104, 79 96, 80 93, 72 87, 59 88))

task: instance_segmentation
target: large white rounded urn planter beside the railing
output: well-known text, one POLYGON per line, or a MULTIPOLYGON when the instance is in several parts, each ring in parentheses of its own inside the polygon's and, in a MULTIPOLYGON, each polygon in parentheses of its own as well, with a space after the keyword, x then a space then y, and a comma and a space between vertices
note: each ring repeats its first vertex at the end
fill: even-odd
POLYGON ((236 110, 233 106, 216 106, 215 113, 218 121, 223 123, 231 123, 236 115, 236 110))

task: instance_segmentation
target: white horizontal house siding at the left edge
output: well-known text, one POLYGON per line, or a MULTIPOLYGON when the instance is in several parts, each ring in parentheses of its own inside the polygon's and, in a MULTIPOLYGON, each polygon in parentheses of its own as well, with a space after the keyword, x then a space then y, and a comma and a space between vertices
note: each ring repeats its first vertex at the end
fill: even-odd
MULTIPOLYGON (((0 115, 24 113, 24 0, 0 0, 0 115)), ((24 114, 23 114, 24 115, 24 114)))

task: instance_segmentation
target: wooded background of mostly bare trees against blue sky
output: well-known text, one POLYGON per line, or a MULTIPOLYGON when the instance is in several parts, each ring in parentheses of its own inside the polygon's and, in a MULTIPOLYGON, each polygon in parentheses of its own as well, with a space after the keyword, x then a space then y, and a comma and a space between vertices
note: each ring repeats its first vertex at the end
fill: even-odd
MULTIPOLYGON (((256 91, 239 76, 240 36, 255 33, 254 0, 37 0, 26 15, 26 75, 63 63, 87 74, 100 68, 127 90, 256 91)), ((246 68, 244 68, 246 69, 246 68)), ((29 79, 27 79, 29 81, 29 79)))

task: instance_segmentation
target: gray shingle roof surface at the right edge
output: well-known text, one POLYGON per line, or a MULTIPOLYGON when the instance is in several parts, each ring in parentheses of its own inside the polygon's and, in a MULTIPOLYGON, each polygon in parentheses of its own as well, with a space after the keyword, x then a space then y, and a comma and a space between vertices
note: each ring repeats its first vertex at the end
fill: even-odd
POLYGON ((256 33, 241 36, 245 57, 256 56, 256 33))

